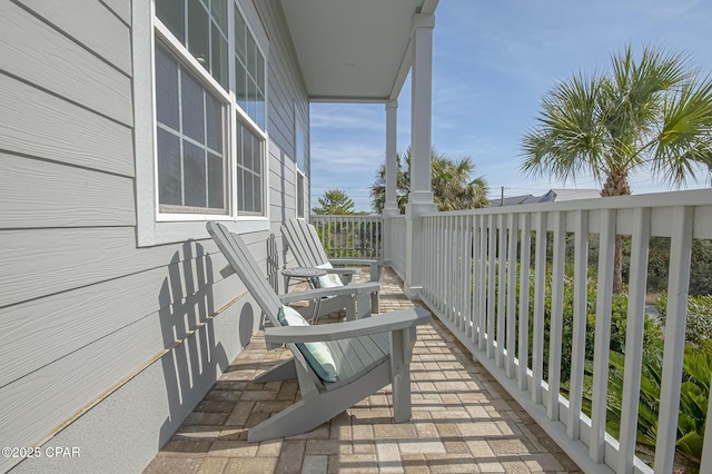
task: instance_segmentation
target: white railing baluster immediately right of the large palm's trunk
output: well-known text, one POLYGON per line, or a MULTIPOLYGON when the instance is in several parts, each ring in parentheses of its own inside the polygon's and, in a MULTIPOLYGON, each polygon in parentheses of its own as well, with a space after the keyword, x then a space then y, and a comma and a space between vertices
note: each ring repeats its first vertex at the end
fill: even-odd
POLYGON ((623 474, 633 472, 633 457, 635 456, 637 401, 641 392, 641 369, 643 361, 650 209, 635 209, 633 218, 634 228, 631 239, 627 328, 625 335, 625 368, 623 373, 623 402, 621 404, 621 451, 619 453, 616 468, 616 472, 623 474))

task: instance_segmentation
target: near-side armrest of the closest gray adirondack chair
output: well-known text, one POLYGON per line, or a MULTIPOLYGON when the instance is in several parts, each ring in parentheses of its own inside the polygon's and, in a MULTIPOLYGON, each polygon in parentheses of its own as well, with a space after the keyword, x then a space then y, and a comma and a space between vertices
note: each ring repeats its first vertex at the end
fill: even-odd
POLYGON ((432 319, 424 308, 402 309, 382 316, 318 326, 281 326, 265 328, 265 340, 269 344, 315 343, 348 339, 372 334, 408 329, 432 319))

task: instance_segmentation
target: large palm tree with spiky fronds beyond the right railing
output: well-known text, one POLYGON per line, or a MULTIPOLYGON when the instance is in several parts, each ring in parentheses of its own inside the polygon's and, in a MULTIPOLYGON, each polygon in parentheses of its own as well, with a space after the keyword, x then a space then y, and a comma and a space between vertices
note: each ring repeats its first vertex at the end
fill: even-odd
MULTIPOLYGON (((631 194, 629 175, 646 167, 680 187, 696 178, 695 164, 712 167, 712 80, 689 57, 631 47, 611 57, 609 75, 574 75, 542 100, 537 126, 522 141, 522 170, 567 181, 591 174, 601 196, 631 194)), ((622 289, 616 238, 613 290, 622 289)))

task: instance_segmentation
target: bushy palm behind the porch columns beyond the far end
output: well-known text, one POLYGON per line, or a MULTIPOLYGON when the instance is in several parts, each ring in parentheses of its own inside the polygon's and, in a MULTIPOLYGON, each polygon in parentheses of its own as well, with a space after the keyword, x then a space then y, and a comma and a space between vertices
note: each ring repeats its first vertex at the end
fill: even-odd
MULTIPOLYGON (((482 176, 471 179, 474 165, 469 157, 451 160, 435 150, 431 151, 431 188, 438 210, 457 210, 486 207, 487 184, 482 176)), ((396 155, 396 201, 400 214, 405 213, 411 191, 411 148, 396 155)), ((370 188, 372 206, 382 213, 386 201, 386 166, 380 165, 370 188)))

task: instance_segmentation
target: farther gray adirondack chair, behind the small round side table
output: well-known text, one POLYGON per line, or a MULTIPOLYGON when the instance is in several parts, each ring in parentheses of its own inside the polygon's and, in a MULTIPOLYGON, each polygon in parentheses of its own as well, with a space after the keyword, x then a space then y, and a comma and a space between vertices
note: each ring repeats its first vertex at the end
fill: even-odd
MULTIPOLYGON (((332 264, 334 266, 368 265, 370 267, 370 282, 379 282, 383 267, 390 265, 390 260, 367 260, 354 258, 329 259, 324 250, 324 245, 322 245, 322 241, 319 240, 316 228, 303 219, 288 219, 281 225, 281 235, 287 240, 287 245, 297 260, 297 264, 301 267, 317 267, 324 264, 332 264)), ((346 284, 350 282, 352 275, 356 270, 357 269, 354 268, 327 269, 328 273, 340 275, 346 284)), ((372 294, 370 310, 373 313, 380 312, 379 293, 372 294)))

